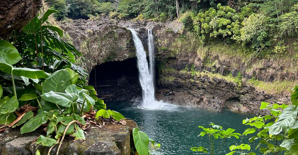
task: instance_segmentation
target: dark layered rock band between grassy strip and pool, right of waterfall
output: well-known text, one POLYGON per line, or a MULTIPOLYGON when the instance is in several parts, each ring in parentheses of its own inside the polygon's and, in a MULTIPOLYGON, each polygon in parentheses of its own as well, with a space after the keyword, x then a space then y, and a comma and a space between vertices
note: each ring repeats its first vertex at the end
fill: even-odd
POLYGON ((221 78, 208 76, 192 76, 187 73, 174 72, 167 74, 174 80, 159 80, 158 100, 168 101, 181 106, 194 108, 208 108, 221 111, 227 107, 233 111, 253 112, 266 114, 268 111, 260 111, 262 101, 270 103, 283 103, 284 98, 271 96, 257 91, 249 85, 238 87, 233 82, 221 78), (175 91, 173 95, 169 92, 175 91))

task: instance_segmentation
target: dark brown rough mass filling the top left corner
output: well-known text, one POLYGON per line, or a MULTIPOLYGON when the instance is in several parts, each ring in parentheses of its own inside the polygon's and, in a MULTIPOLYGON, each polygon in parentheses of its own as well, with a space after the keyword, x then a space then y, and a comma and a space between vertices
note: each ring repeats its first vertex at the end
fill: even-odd
POLYGON ((41 0, 1 0, 0 39, 26 25, 37 15, 41 4, 41 0))

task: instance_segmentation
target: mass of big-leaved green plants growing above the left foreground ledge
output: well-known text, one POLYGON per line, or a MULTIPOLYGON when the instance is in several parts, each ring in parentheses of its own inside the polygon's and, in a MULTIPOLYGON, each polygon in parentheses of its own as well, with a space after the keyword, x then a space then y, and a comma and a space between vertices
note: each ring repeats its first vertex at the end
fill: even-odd
MULTIPOLYGON (((89 75, 74 64, 82 53, 60 38, 61 29, 44 25, 55 12, 46 11, 7 41, 0 40, 1 128, 21 126, 24 134, 46 124, 46 136, 36 143, 51 147, 49 152, 56 144, 59 152, 65 135, 85 140, 85 113, 106 111, 93 86, 86 85, 89 75)), ((124 118, 116 111, 108 116, 124 118)))

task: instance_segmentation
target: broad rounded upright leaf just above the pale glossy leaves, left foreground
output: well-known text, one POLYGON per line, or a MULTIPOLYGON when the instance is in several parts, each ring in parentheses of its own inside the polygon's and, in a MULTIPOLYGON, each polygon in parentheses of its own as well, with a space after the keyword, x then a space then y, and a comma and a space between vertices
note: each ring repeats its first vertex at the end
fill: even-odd
POLYGON ((69 80, 70 75, 66 69, 58 70, 42 83, 42 92, 65 93, 65 89, 70 85, 69 80))

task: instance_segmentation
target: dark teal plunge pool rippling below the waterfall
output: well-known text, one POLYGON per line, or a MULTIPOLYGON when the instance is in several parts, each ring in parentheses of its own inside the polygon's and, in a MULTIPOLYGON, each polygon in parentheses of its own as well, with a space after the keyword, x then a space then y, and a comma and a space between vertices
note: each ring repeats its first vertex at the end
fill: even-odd
MULTIPOLYGON (((193 152, 191 147, 204 146, 209 149, 209 138, 197 137, 203 131, 198 125, 208 127, 209 123, 223 126, 224 129, 234 128, 240 134, 250 126, 242 125, 242 120, 251 118, 255 114, 234 113, 231 111, 215 112, 204 109, 193 109, 179 106, 167 107, 167 110, 144 110, 137 107, 132 101, 117 101, 107 103, 107 108, 122 113, 133 119, 140 130, 161 144, 160 152, 166 155, 193 155, 202 154, 193 152)), ((218 143, 221 143, 219 139, 218 143)), ((248 143, 248 138, 242 139, 248 143)), ((240 139, 227 139, 216 155, 229 153, 229 146, 240 144, 240 139)), ((217 149, 218 147, 215 146, 217 149)), ((251 145, 254 151, 255 145, 251 145)), ((215 150, 216 150, 215 149, 215 150)))

